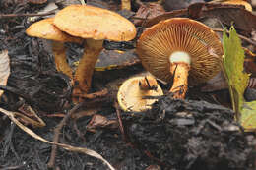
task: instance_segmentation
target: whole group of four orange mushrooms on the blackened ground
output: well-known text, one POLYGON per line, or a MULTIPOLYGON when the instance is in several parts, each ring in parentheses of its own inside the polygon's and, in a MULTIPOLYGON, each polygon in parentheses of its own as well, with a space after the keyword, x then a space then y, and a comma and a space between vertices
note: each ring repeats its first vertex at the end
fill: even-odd
MULTIPOLYGON (((52 40, 56 68, 78 83, 73 96, 80 96, 91 88, 103 40, 131 40, 136 36, 136 28, 115 12, 70 5, 54 18, 32 24, 26 33, 52 40), (74 75, 66 61, 65 42, 85 44, 74 75)), ((117 99, 125 111, 149 109, 156 99, 145 97, 163 95, 156 78, 166 83, 173 81, 169 92, 174 98, 183 99, 188 84, 199 85, 217 75, 223 47, 217 34, 204 24, 188 18, 172 18, 147 28, 137 41, 136 52, 151 75, 128 79, 120 86, 117 99)))

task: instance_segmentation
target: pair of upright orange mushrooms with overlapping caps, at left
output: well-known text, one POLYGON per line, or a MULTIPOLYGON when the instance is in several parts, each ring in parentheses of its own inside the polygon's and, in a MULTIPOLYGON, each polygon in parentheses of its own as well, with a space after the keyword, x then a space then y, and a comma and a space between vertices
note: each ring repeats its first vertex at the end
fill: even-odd
POLYGON ((135 26, 109 10, 89 5, 70 5, 60 10, 54 18, 32 24, 26 33, 52 40, 56 69, 74 80, 73 96, 88 93, 96 60, 103 49, 104 39, 128 41, 136 36, 135 26), (73 76, 66 61, 64 42, 84 43, 84 55, 73 76))

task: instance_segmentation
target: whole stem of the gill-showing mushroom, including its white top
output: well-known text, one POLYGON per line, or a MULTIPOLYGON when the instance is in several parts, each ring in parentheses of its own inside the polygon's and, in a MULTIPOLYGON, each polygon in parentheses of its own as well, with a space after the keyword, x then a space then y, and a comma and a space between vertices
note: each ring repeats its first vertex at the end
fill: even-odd
POLYGON ((170 72, 174 75, 173 85, 169 92, 174 98, 185 98, 188 88, 188 72, 190 69, 190 56, 186 52, 177 51, 170 55, 170 72))

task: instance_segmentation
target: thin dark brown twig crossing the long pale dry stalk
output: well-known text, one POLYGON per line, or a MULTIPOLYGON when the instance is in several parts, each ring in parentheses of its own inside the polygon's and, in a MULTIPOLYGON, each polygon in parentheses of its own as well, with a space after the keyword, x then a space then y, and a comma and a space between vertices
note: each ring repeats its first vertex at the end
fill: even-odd
MULTIPOLYGON (((57 127, 54 129, 54 138, 53 142, 59 142, 59 136, 60 136, 60 131, 62 127, 66 124, 67 120, 71 117, 71 115, 76 112, 84 103, 81 102, 74 106, 69 112, 66 114, 66 116, 62 119, 62 121, 57 125, 57 127)), ((56 158, 56 152, 57 152, 57 145, 52 145, 51 147, 51 155, 50 155, 50 160, 47 164, 48 168, 54 168, 55 165, 55 158, 56 158)))

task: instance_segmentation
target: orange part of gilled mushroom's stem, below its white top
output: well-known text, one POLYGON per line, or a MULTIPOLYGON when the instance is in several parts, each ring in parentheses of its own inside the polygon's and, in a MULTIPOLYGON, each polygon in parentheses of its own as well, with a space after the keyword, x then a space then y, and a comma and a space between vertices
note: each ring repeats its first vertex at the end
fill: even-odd
POLYGON ((188 63, 173 63, 170 72, 174 75, 173 85, 169 92, 173 93, 173 98, 184 99, 188 88, 188 71, 190 66, 188 63))

